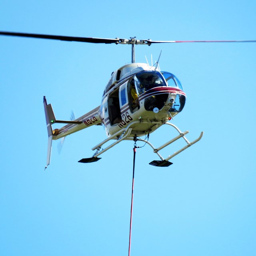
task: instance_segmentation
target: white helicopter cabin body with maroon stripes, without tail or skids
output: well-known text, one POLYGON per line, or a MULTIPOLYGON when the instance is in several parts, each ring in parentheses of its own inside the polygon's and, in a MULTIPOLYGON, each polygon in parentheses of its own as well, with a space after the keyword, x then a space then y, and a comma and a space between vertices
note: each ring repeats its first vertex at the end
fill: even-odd
POLYGON ((127 64, 112 73, 102 97, 99 116, 107 136, 138 120, 141 122, 131 126, 131 137, 143 136, 161 126, 152 124, 153 121, 165 124, 178 114, 184 106, 185 96, 175 84, 168 86, 158 69, 144 63, 127 64), (148 77, 154 77, 154 80, 143 84, 143 79, 146 81, 148 77), (136 100, 132 96, 132 88, 136 89, 136 100), (178 103, 178 109, 174 107, 178 106, 175 105, 177 100, 183 101, 178 103))

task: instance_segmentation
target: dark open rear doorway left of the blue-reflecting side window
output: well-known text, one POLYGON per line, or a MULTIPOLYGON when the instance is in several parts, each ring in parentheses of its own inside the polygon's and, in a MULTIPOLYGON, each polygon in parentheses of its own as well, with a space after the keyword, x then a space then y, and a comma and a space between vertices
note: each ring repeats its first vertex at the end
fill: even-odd
POLYGON ((122 121, 121 118, 121 111, 120 111, 120 102, 119 102, 119 97, 118 97, 118 88, 114 90, 109 95, 108 98, 108 112, 109 112, 109 120, 110 124, 118 124, 122 121))

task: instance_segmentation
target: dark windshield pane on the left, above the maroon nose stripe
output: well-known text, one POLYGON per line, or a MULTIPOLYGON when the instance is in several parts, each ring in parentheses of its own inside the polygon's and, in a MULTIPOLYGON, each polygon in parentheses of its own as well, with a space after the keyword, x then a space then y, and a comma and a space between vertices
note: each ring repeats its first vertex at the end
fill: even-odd
POLYGON ((166 86, 162 75, 157 71, 142 71, 136 74, 134 80, 139 94, 154 87, 166 86))

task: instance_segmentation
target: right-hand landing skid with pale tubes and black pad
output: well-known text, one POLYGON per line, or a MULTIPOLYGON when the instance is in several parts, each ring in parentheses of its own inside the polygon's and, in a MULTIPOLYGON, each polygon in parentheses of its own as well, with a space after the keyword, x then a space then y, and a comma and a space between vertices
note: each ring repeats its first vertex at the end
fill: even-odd
MULTIPOLYGON (((152 124, 162 124, 162 123, 160 123, 160 122, 152 122, 152 124)), ((172 162, 169 162, 169 160, 171 158, 173 158, 174 156, 177 156, 178 154, 180 154, 180 152, 184 151, 188 147, 192 146, 193 144, 195 144, 196 142, 201 140, 202 136, 204 135, 204 132, 201 132, 200 136, 196 140, 194 140, 192 142, 189 142, 189 140, 185 137, 185 135, 188 134, 189 131, 181 132, 180 129, 177 126, 175 126, 174 124, 171 124, 171 123, 168 123, 168 122, 165 123, 165 124, 168 124, 168 125, 172 126, 173 128, 175 128, 178 131, 179 135, 176 136, 175 138, 173 138, 172 140, 169 140, 168 142, 164 143, 162 146, 159 146, 158 148, 155 148, 147 140, 139 139, 139 141, 145 142, 149 146, 151 146, 151 148, 153 149, 154 153, 156 153, 160 157, 161 160, 154 160, 154 161, 149 163, 150 165, 153 165, 153 166, 158 166, 158 167, 168 167, 168 166, 170 166, 172 164, 172 162), (174 154, 168 156, 167 158, 163 158, 160 155, 159 151, 162 150, 163 148, 165 148, 166 146, 172 144, 174 141, 178 140, 179 138, 183 138, 186 141, 187 145, 184 146, 183 148, 181 148, 180 150, 174 152, 174 154)), ((133 138, 126 138, 126 140, 134 140, 134 139, 133 138)))

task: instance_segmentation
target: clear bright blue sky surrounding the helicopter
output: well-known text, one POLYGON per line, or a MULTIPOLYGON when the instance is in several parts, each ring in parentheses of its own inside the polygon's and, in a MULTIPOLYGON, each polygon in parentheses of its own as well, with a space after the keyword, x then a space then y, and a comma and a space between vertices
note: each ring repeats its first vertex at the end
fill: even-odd
MULTIPOLYGON (((256 3, 237 1, 14 1, 0 3, 0 30, 152 40, 255 40, 256 3)), ((187 94, 174 119, 200 142, 169 168, 138 149, 131 255, 256 254, 256 44, 136 47, 174 73, 187 94)), ((0 254, 128 255, 133 142, 92 164, 101 126, 53 143, 44 171, 43 96, 58 119, 101 102, 112 71, 130 62, 130 46, 0 37, 0 254)), ((57 126, 56 126, 57 127, 57 126)), ((150 142, 176 136, 160 128, 150 142)), ((184 145, 184 144, 182 144, 184 145)), ((165 155, 181 146, 170 146, 165 155)))

